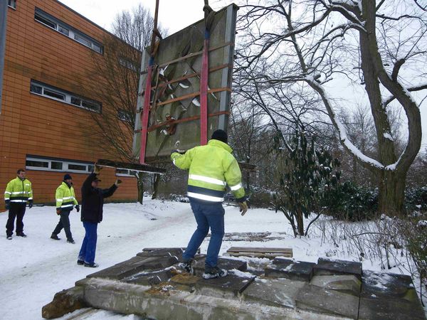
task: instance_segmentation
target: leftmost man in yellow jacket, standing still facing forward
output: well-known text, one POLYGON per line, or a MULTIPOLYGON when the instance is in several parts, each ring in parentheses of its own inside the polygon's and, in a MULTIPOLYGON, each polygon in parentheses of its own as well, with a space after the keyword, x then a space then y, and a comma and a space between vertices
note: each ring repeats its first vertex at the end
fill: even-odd
POLYGON ((33 189, 31 182, 26 178, 26 172, 23 169, 16 171, 16 178, 9 181, 4 191, 4 201, 6 210, 9 210, 9 218, 6 223, 6 238, 12 240, 14 233, 14 224, 16 218, 16 235, 26 238, 23 233, 23 215, 25 215, 26 203, 28 208, 33 207, 33 189))

